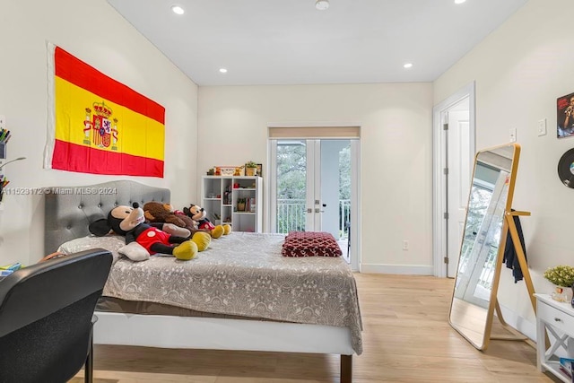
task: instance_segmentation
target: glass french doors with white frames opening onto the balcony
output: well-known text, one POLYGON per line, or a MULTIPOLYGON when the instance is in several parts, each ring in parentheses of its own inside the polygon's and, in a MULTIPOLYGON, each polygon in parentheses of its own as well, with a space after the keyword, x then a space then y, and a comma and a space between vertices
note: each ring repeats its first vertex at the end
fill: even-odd
POLYGON ((271 140, 272 232, 330 232, 351 262, 358 143, 356 139, 271 140))

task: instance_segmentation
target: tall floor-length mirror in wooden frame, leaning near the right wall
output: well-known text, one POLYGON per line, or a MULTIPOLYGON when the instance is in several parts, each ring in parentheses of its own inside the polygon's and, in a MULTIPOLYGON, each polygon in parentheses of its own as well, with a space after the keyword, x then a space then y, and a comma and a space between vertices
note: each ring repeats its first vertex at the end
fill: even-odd
POLYGON ((488 347, 520 146, 476 153, 449 322, 479 350, 488 347))

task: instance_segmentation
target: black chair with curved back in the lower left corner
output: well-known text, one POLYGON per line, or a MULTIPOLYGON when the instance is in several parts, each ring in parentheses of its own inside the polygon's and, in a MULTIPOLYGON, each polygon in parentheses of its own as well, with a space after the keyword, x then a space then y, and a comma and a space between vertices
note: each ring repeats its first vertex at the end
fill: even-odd
POLYGON ((0 382, 92 380, 92 316, 112 256, 94 248, 24 267, 0 281, 0 382))

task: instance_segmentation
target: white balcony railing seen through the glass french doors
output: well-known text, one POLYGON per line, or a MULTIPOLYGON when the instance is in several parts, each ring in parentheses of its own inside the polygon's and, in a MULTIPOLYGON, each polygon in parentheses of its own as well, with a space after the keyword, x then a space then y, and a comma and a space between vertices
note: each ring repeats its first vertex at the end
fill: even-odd
MULTIPOLYGON (((278 199, 277 200, 277 232, 287 234, 289 231, 305 231, 307 219, 304 199, 278 199)), ((339 200, 339 239, 349 237, 351 222, 351 200, 339 200)))

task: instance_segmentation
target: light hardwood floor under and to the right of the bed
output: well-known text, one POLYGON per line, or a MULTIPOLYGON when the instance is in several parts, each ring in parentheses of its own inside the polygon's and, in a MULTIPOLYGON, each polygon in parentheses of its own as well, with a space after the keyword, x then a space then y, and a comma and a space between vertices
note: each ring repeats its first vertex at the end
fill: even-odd
MULTIPOLYGON (((525 342, 480 352, 448 325, 453 280, 356 274, 364 330, 353 382, 559 382, 536 370, 525 342)), ((96 383, 337 382, 339 358, 96 345, 96 383)), ((82 382, 83 373, 72 381, 82 382)))

